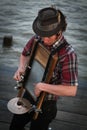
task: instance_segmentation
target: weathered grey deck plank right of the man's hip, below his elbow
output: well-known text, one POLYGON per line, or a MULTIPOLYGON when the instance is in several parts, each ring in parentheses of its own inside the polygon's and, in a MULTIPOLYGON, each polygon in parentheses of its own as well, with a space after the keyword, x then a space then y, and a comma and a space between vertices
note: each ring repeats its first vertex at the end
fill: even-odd
POLYGON ((79 95, 76 97, 60 97, 57 103, 58 110, 87 115, 87 90, 78 91, 79 95))

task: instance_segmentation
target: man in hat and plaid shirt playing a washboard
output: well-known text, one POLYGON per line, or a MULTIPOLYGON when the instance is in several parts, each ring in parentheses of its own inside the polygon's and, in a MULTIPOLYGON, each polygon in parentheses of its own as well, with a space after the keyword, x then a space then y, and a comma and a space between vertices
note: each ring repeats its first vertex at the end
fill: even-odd
MULTIPOLYGON (((65 44, 58 52, 58 63, 55 67, 50 83, 35 84, 35 95, 38 97, 42 91, 47 92, 42 104, 42 113, 36 120, 33 120, 33 112, 22 115, 14 115, 10 130, 23 130, 24 126, 31 121, 30 130, 48 130, 49 123, 57 113, 58 96, 75 96, 78 86, 77 56, 74 49, 67 43, 63 36, 66 30, 65 16, 60 10, 51 7, 41 9, 33 22, 33 30, 37 34, 32 37, 23 49, 20 57, 18 70, 14 75, 15 80, 20 80, 25 73, 25 66, 28 64, 33 41, 35 38, 49 49, 55 49, 65 44)), ((36 73, 36 72, 35 72, 36 73)))

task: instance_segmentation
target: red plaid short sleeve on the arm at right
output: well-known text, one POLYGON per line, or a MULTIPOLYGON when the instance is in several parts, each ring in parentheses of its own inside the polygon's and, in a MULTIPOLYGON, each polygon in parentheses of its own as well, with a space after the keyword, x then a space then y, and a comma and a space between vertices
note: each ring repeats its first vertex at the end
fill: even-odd
POLYGON ((78 64, 75 52, 67 54, 62 65, 62 84, 78 86, 78 64))

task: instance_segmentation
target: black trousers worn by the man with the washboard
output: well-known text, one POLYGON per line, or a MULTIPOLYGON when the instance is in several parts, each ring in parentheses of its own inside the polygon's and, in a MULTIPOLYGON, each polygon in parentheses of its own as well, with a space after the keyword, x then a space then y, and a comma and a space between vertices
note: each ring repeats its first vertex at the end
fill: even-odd
POLYGON ((49 124, 57 113, 56 101, 45 101, 42 104, 42 113, 37 119, 33 119, 34 112, 21 115, 14 114, 9 130, 24 130, 25 125, 30 122, 30 130, 48 130, 49 124))

